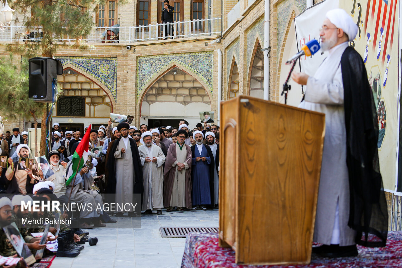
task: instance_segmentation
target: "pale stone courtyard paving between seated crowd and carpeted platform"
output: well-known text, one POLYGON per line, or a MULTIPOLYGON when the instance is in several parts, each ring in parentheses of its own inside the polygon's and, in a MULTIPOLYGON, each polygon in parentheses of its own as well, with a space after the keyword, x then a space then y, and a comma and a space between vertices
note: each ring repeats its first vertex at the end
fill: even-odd
POLYGON ((85 243, 77 258, 56 257, 51 268, 177 268, 183 257, 185 238, 163 238, 159 227, 219 227, 219 212, 197 210, 172 212, 162 215, 142 215, 141 228, 119 228, 134 225, 130 217, 108 223, 106 228, 89 229, 90 237, 97 237, 98 244, 85 243))

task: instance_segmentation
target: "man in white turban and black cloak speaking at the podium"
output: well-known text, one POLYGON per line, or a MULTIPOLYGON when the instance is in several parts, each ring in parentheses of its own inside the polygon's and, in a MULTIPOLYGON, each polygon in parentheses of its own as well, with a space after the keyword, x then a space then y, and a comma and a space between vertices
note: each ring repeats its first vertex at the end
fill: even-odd
POLYGON ((328 57, 314 76, 292 74, 295 82, 307 85, 300 107, 325 113, 314 227, 314 241, 324 245, 313 251, 330 258, 357 256, 356 243, 383 247, 388 230, 373 94, 361 56, 349 47, 356 34, 345 10, 328 11, 320 30, 328 57), (368 233, 377 240, 368 241, 368 233))

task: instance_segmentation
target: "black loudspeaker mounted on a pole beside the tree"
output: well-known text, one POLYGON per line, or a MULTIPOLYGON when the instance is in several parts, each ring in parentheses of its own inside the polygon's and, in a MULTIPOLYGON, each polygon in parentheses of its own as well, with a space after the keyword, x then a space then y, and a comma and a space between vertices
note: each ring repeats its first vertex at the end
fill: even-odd
POLYGON ((57 74, 63 74, 59 60, 46 57, 29 59, 29 98, 38 102, 53 102, 57 91, 57 74))

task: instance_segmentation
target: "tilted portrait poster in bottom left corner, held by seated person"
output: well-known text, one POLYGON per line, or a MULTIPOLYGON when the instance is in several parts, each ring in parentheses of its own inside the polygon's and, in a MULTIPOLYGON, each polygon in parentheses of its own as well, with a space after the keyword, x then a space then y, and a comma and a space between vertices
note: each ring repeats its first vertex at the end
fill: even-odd
POLYGON ((36 262, 35 257, 32 255, 31 250, 25 243, 24 238, 22 237, 15 223, 11 223, 10 225, 3 227, 3 231, 18 253, 18 256, 23 257, 28 265, 36 262))

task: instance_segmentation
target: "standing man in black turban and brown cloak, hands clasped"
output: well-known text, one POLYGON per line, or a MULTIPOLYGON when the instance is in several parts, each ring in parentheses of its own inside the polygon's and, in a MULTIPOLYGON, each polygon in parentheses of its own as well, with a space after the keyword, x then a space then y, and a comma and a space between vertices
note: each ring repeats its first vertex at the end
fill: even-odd
POLYGON ((164 171, 163 203, 166 211, 191 208, 191 148, 184 143, 187 131, 177 132, 177 142, 169 146, 164 171))

